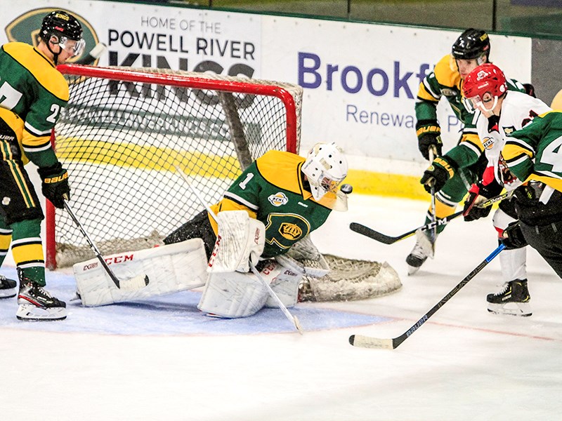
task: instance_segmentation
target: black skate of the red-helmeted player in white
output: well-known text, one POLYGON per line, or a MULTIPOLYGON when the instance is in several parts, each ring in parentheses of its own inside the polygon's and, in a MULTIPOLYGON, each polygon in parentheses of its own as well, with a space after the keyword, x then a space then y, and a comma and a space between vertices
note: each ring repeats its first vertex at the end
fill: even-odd
POLYGON ((527 279, 516 279, 504 283, 502 290, 495 294, 488 294, 488 312, 494 314, 509 314, 511 316, 530 316, 530 295, 527 289, 527 279))

